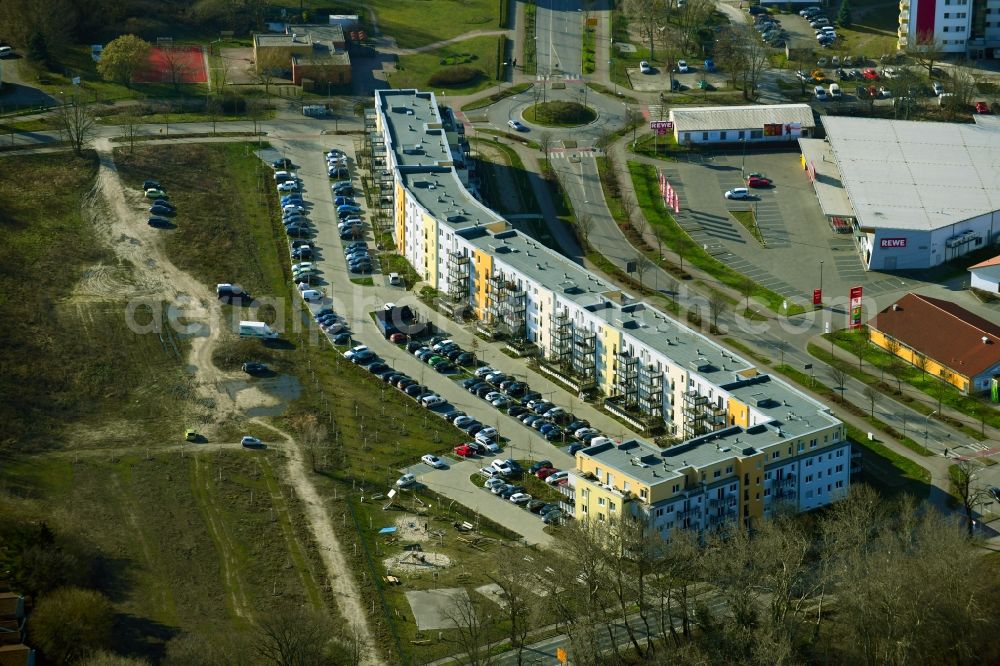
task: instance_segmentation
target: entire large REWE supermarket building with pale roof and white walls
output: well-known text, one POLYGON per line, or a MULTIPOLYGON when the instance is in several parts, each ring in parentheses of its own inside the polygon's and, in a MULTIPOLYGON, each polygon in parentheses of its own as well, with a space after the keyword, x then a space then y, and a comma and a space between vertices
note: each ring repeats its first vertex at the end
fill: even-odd
POLYGON ((937 266, 1000 240, 1000 127, 825 116, 803 139, 823 212, 870 270, 937 266))

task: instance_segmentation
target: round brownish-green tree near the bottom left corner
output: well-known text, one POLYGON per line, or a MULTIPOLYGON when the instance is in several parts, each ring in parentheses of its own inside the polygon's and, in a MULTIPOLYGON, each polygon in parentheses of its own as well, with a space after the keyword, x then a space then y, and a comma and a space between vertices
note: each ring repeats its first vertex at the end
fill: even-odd
POLYGON ((30 639, 53 664, 68 664, 108 647, 114 610, 100 592, 61 587, 38 602, 30 639))

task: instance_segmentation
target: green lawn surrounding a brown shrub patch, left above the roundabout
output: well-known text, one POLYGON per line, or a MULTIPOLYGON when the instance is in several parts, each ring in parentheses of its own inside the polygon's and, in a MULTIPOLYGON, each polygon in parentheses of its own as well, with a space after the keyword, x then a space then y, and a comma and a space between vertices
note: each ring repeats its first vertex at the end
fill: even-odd
MULTIPOLYGON (((423 3, 413 3, 420 6, 423 3)), ((496 84, 497 38, 474 37, 428 53, 399 57, 396 72, 389 75, 393 88, 418 88, 452 95, 466 95, 496 84), (442 64, 446 62, 449 64, 442 64), (450 65, 466 65, 480 70, 476 79, 455 86, 432 86, 429 80, 436 72, 450 65)))

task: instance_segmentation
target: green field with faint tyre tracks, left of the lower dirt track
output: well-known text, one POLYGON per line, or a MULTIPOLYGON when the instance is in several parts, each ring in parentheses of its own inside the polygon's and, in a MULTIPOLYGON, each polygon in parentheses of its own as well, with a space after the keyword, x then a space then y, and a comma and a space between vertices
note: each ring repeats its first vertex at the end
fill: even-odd
POLYGON ((5 466, 0 512, 88 545, 119 613, 118 652, 155 658, 182 632, 242 633, 253 618, 328 601, 301 507, 275 482, 277 454, 190 446, 5 466))

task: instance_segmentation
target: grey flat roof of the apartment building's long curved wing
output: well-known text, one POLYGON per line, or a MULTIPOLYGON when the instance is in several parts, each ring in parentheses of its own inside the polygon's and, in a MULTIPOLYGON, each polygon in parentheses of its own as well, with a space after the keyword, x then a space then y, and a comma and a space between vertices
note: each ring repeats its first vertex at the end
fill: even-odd
MULTIPOLYGON (((404 187, 439 224, 450 227, 473 246, 552 289, 560 298, 586 308, 607 325, 714 385, 733 386, 734 392, 740 395, 738 399, 753 409, 771 414, 766 411, 771 408, 770 403, 762 402, 765 406, 755 407, 752 396, 743 397, 740 393, 743 392, 740 382, 754 372, 754 366, 746 359, 650 304, 636 300, 530 236, 510 228, 500 215, 469 194, 452 166, 451 150, 433 93, 382 90, 376 92, 376 104, 388 124, 392 145, 386 149, 396 156, 404 187)), ((757 392, 761 390, 764 389, 758 388, 757 392)), ((807 416, 824 409, 820 403, 784 382, 771 380, 766 390, 775 404, 793 405, 807 416)), ((775 418, 781 416, 781 410, 774 408, 773 415, 775 418)), ((836 420, 828 417, 826 422, 817 419, 811 422, 818 429, 836 420)), ((798 428, 787 430, 789 433, 797 431, 798 428)))

